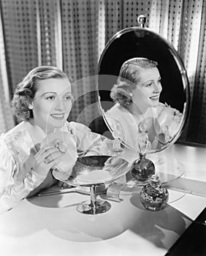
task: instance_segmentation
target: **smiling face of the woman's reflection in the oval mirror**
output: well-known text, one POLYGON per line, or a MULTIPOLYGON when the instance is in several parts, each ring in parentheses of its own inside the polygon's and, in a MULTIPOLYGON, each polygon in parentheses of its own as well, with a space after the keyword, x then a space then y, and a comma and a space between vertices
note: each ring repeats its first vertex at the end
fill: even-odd
POLYGON ((132 100, 139 108, 156 107, 159 105, 161 93, 161 77, 156 67, 142 69, 140 81, 132 91, 132 100))

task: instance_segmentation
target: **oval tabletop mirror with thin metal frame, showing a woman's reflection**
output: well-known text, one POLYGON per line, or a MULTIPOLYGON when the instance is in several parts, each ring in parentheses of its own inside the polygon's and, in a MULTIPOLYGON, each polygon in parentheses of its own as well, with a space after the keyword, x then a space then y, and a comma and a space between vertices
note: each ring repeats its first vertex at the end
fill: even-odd
POLYGON ((98 73, 99 105, 113 137, 142 154, 178 139, 188 114, 188 78, 167 40, 150 29, 123 29, 104 48, 98 73))

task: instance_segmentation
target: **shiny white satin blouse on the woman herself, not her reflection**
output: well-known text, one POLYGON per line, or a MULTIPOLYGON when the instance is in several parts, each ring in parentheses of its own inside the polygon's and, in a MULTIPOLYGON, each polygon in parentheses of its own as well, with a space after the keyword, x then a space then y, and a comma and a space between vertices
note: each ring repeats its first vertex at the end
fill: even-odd
MULTIPOLYGON (((76 148, 77 154, 107 154, 108 139, 83 124, 66 122, 60 131, 71 134, 72 148, 76 148)), ((42 129, 38 135, 32 134, 28 121, 22 121, 0 136, 0 213, 15 206, 47 178, 32 169, 38 151, 34 137, 41 142, 46 134, 42 129)))

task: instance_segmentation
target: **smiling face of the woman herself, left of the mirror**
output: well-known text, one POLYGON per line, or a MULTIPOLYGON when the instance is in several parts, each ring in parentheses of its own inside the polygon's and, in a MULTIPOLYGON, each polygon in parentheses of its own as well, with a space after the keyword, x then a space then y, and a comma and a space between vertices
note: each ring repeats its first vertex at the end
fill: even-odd
POLYGON ((67 78, 39 80, 31 105, 34 124, 46 133, 63 127, 72 108, 72 90, 69 80, 67 78))

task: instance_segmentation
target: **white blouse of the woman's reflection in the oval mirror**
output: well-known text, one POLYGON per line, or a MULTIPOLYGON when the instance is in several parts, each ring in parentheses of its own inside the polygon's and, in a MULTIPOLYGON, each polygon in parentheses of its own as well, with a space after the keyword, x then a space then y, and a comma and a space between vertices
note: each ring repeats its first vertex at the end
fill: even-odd
POLYGON ((146 124, 146 134, 152 148, 156 148, 156 138, 159 135, 166 137, 166 129, 168 127, 169 140, 174 138, 180 127, 181 113, 175 108, 160 103, 158 108, 154 108, 153 112, 144 115, 134 115, 129 110, 123 108, 116 103, 110 110, 107 110, 105 116, 113 131, 118 132, 119 138, 133 148, 137 148, 137 138, 140 138, 140 124, 146 124), (168 110, 161 120, 157 118, 161 111, 168 110), (178 113, 178 121, 175 121, 174 113, 178 113), (180 117, 180 118, 179 118, 180 117))

